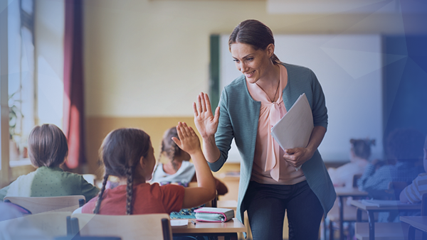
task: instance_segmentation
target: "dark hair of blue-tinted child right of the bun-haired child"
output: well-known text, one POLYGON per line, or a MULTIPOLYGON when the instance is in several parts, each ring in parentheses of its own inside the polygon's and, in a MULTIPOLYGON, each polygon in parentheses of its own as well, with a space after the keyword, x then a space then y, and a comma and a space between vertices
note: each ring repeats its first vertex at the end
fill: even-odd
POLYGON ((423 158, 423 133, 416 129, 391 131, 386 141, 386 153, 396 160, 419 160, 423 158))

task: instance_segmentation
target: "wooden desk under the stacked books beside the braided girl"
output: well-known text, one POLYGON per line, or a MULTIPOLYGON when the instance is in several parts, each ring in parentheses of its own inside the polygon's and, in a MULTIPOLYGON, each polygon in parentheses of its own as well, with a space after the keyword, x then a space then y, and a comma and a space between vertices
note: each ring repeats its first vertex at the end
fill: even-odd
POLYGON ((233 218, 228 222, 196 222, 192 224, 188 219, 187 226, 172 227, 174 236, 224 236, 225 239, 237 240, 238 232, 246 232, 246 227, 238 219, 233 218))

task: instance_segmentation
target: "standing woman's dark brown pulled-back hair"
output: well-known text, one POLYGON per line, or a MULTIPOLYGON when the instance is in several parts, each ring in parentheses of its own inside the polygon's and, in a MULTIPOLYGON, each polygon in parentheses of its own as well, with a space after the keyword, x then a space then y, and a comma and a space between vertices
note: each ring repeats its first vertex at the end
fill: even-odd
MULTIPOLYGON (((273 32, 264 23, 248 19, 239 23, 234 28, 230 38, 228 38, 228 49, 231 48, 231 44, 233 43, 245 43, 252 45, 255 50, 265 50, 270 43, 274 45, 273 32)), ((271 56, 271 60, 274 64, 282 63, 274 53, 271 56)))

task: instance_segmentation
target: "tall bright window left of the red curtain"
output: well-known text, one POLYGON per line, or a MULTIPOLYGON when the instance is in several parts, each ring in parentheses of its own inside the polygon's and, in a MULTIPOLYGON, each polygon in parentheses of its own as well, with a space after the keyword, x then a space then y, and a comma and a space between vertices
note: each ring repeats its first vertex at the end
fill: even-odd
POLYGON ((62 128, 63 116, 64 1, 9 1, 5 10, 0 12, 0 187, 33 170, 26 150, 31 129, 45 123, 62 128))

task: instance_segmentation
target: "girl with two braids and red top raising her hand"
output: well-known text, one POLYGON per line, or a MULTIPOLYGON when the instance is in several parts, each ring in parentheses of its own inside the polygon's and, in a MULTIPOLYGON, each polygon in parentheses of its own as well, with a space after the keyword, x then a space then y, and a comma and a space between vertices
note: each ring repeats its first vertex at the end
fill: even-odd
POLYGON ((199 187, 149 184, 154 165, 154 150, 147 133, 140 129, 116 129, 102 142, 100 160, 105 175, 100 194, 75 212, 95 214, 170 213, 195 207, 215 197, 215 181, 201 152, 199 138, 191 127, 179 122, 179 138, 172 138, 194 160, 199 187), (114 189, 105 189, 108 177, 120 179, 114 189))

